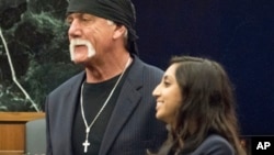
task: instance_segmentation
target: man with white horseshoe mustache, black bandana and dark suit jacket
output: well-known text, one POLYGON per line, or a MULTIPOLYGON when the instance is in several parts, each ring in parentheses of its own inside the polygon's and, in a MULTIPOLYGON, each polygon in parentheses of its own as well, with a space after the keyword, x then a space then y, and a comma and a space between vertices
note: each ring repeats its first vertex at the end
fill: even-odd
POLYGON ((151 92, 163 71, 137 56, 130 0, 70 0, 70 56, 84 70, 46 100, 47 155, 144 155, 165 140, 151 92))

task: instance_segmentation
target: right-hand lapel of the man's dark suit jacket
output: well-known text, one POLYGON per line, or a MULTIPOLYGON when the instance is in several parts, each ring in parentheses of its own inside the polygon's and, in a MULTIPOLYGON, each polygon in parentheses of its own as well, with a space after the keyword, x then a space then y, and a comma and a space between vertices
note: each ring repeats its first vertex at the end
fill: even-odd
POLYGON ((138 58, 136 58, 128 73, 128 77, 122 87, 117 103, 104 133, 99 155, 107 154, 115 139, 118 136, 119 131, 123 129, 141 99, 138 91, 138 89, 142 87, 142 74, 140 74, 142 73, 141 67, 142 65, 140 65, 138 58))

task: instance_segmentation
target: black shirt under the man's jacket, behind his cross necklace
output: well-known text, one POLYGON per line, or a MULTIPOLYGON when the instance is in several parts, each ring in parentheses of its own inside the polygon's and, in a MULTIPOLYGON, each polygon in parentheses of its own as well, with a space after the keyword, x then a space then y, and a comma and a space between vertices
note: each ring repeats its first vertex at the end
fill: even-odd
MULTIPOLYGON (((114 85, 118 80, 121 75, 103 81, 99 84, 87 84, 83 86, 83 109, 84 117, 88 125, 91 124, 102 106, 104 104, 106 98, 111 93, 114 85)), ((103 135, 111 118, 112 111, 116 104, 116 100, 118 98, 121 88, 124 82, 124 77, 126 77, 126 73, 119 81, 117 88, 114 90, 111 99, 109 100, 106 107, 90 129, 89 133, 89 147, 88 152, 84 153, 83 142, 85 141, 85 125, 81 115, 81 106, 80 106, 80 97, 79 103, 77 106, 77 111, 75 115, 73 129, 72 129, 72 150, 76 155, 98 155, 100 145, 103 140, 103 135)), ((80 95, 81 96, 81 95, 80 95)))

